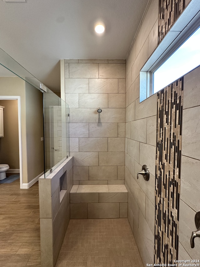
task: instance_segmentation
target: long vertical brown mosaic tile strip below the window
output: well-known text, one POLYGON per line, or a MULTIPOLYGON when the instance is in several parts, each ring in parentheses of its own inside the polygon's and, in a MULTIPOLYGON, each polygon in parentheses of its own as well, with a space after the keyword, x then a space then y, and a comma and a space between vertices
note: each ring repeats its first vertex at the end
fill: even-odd
POLYGON ((178 259, 183 78, 158 92, 155 264, 178 259))

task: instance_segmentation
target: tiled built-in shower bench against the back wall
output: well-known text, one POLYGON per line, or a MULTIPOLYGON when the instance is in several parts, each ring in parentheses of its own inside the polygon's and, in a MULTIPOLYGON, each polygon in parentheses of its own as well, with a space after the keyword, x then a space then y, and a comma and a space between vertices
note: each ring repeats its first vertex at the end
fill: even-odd
POLYGON ((73 185, 70 218, 127 218, 128 191, 124 184, 73 185))

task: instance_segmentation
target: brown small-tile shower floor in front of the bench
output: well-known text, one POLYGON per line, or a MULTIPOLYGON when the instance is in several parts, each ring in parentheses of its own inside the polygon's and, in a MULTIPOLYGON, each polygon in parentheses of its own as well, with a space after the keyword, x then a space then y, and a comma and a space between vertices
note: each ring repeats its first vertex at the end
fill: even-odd
POLYGON ((56 267, 143 267, 127 218, 71 219, 56 267))

